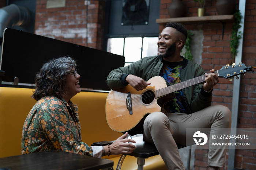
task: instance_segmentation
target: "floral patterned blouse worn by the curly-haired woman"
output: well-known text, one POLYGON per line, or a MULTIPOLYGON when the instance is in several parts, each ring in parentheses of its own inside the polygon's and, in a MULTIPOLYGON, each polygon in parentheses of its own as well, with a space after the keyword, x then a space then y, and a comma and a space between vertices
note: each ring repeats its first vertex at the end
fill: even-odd
POLYGON ((93 156, 93 149, 82 142, 78 107, 57 97, 37 101, 22 130, 21 154, 63 150, 93 156))

